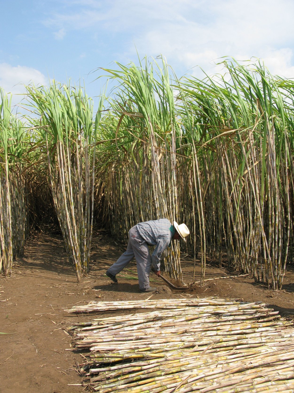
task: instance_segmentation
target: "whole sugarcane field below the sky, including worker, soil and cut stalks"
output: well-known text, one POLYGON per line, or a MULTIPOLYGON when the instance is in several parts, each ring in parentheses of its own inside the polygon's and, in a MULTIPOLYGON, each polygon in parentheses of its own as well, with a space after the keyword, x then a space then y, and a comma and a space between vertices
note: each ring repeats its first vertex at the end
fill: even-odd
POLYGON ((219 65, 0 87, 0 393, 294 392, 294 79, 219 65))

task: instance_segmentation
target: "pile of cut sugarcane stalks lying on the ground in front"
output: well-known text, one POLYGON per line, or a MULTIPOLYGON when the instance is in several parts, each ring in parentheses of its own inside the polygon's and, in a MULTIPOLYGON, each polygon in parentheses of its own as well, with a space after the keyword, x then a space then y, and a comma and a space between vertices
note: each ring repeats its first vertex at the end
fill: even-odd
POLYGON ((80 371, 100 393, 294 392, 294 329, 265 303, 234 299, 92 302, 68 312, 112 311, 78 323, 80 371), (126 309, 154 309, 114 315, 126 309))

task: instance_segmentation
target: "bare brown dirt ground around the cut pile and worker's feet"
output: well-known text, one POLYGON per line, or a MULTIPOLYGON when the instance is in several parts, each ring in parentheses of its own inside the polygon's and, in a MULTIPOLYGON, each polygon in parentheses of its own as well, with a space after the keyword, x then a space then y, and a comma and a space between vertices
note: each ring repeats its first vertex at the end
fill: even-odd
MULTIPOLYGON (((18 258, 12 277, 0 278, 0 393, 73 393, 81 392, 76 362, 82 360, 71 348, 71 336, 66 327, 77 321, 87 321, 97 314, 76 316, 68 309, 89 301, 145 299, 136 280, 119 279, 118 285, 103 276, 107 267, 124 251, 112 239, 96 234, 91 254, 91 269, 82 283, 67 262, 61 238, 39 235, 27 242, 25 256, 18 258), (69 349, 69 350, 67 350, 69 349), (76 385, 75 385, 76 384, 76 385)), ((193 261, 182 260, 183 278, 192 281, 193 261)), ((131 270, 136 272, 135 264, 131 270)), ((171 291, 151 274, 159 289, 153 299, 242 298, 264 301, 279 310, 282 316, 294 318, 294 271, 285 275, 282 291, 272 292, 255 284, 249 277, 207 281, 203 287, 185 292, 171 291)), ((225 269, 207 264, 206 279, 232 275, 225 269)), ((200 264, 196 265, 196 280, 200 264)))

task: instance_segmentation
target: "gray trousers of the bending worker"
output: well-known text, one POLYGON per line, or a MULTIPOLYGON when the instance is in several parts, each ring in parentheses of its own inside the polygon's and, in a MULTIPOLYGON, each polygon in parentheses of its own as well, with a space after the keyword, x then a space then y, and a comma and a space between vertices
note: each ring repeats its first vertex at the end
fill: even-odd
POLYGON ((127 251, 107 271, 113 275, 118 274, 134 257, 137 263, 139 288, 141 290, 148 289, 150 286, 151 255, 147 242, 142 238, 136 226, 129 230, 127 251))

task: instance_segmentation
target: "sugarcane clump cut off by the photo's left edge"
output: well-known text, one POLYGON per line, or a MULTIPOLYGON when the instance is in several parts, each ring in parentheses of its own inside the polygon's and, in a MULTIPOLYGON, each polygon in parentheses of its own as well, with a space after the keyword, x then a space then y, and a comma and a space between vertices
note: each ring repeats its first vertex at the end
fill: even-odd
POLYGON ((0 272, 12 274, 13 257, 24 254, 27 233, 23 123, 11 114, 11 97, 0 88, 0 272))

